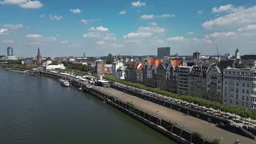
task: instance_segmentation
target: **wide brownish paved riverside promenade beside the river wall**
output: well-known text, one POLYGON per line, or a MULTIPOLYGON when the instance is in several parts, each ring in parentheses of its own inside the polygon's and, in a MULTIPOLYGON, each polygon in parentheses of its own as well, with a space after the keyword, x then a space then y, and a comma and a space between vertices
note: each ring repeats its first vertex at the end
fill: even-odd
POLYGON ((215 124, 208 123, 199 118, 185 115, 182 112, 169 109, 165 106, 152 103, 148 100, 143 100, 133 95, 125 94, 121 91, 118 91, 117 89, 103 87, 96 87, 96 89, 98 89, 102 93, 112 94, 114 97, 117 97, 122 101, 130 103, 132 101, 132 103, 135 104, 137 107, 145 111, 149 111, 150 113, 155 113, 155 115, 158 115, 165 119, 170 119, 170 121, 177 123, 181 127, 186 127, 187 129, 198 131, 203 136, 208 137, 208 139, 221 139, 221 137, 223 137, 223 142, 220 143, 234 143, 237 139, 240 140, 240 143, 256 143, 256 141, 249 139, 247 137, 220 129, 216 127, 215 124))

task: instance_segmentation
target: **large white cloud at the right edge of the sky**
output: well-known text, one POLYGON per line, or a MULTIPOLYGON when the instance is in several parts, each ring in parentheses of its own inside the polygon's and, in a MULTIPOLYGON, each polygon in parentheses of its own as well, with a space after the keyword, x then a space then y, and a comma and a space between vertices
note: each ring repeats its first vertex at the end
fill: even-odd
POLYGON ((254 7, 222 7, 214 9, 214 11, 227 11, 229 14, 220 16, 217 19, 211 19, 204 23, 202 26, 206 29, 220 29, 220 28, 235 28, 246 26, 256 22, 256 6, 254 7))

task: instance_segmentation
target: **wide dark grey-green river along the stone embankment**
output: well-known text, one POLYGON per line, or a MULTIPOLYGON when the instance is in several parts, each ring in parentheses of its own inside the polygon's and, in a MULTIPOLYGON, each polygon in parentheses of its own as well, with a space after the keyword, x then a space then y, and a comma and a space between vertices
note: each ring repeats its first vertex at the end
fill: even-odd
POLYGON ((56 79, 0 70, 0 143, 174 143, 56 79))

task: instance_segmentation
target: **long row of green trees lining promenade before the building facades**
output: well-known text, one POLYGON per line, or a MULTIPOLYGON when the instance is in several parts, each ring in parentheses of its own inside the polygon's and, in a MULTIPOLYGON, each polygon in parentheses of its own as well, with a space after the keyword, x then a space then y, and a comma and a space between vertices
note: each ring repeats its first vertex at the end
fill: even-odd
POLYGON ((212 107, 215 110, 220 110, 220 111, 223 111, 223 112, 229 112, 229 113, 232 113, 234 115, 241 116, 243 118, 256 119, 256 113, 254 113, 252 111, 247 111, 246 109, 242 109, 240 107, 230 106, 230 105, 223 105, 223 104, 220 104, 216 101, 210 101, 210 100, 202 99, 202 98, 199 98, 199 97, 193 97, 191 95, 182 95, 182 94, 177 94, 177 93, 171 93, 171 92, 163 91, 159 88, 152 88, 152 87, 147 87, 147 86, 141 85, 139 83, 132 83, 132 82, 129 82, 129 81, 119 80, 119 79, 116 79, 115 77, 106 76, 104 78, 108 81, 119 82, 119 83, 122 83, 122 84, 127 85, 127 86, 132 86, 132 87, 136 87, 136 88, 139 88, 139 89, 144 89, 146 91, 150 91, 150 92, 153 92, 153 93, 166 95, 167 97, 179 99, 179 100, 182 100, 182 101, 187 101, 188 103, 193 103, 193 104, 196 104, 196 105, 199 105, 199 106, 205 106, 208 109, 210 109, 212 107))

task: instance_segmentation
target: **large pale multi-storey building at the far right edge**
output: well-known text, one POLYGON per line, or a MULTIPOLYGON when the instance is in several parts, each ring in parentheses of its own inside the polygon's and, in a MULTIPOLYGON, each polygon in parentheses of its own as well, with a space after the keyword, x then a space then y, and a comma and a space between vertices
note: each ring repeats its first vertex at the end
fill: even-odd
POLYGON ((224 69, 223 104, 256 112, 256 69, 224 69))

